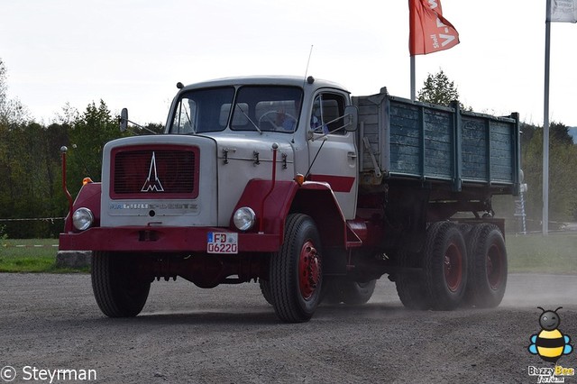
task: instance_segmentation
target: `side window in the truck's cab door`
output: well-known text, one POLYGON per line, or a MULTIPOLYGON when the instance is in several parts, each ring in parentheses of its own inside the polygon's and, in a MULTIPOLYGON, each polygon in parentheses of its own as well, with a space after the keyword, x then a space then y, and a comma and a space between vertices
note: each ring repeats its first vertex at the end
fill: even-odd
POLYGON ((310 117, 310 128, 315 133, 344 134, 343 127, 344 97, 324 93, 316 96, 310 117))

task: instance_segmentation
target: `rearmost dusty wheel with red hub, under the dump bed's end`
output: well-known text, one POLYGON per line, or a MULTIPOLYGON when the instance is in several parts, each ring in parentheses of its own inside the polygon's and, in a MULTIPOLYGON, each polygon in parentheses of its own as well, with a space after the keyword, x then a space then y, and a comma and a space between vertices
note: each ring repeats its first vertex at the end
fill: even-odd
POLYGON ((478 224, 469 237, 469 283, 466 303, 480 308, 499 306, 507 288, 507 249, 499 227, 478 224))

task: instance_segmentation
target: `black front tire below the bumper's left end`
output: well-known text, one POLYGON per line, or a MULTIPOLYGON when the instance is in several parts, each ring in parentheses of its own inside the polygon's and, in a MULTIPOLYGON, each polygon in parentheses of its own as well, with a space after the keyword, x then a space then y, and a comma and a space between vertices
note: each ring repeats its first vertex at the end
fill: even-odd
POLYGON ((133 255, 94 251, 92 290, 100 310, 109 317, 133 317, 142 311, 151 282, 138 278, 133 255))

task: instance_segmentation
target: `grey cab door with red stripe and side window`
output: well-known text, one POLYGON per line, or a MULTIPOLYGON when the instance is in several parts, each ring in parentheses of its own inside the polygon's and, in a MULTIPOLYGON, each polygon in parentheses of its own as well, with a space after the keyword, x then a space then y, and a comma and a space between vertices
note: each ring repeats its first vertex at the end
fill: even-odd
POLYGON ((310 111, 308 178, 324 181, 334 191, 343 215, 353 219, 356 212, 358 161, 355 133, 347 132, 344 107, 347 96, 333 90, 315 96, 310 111))

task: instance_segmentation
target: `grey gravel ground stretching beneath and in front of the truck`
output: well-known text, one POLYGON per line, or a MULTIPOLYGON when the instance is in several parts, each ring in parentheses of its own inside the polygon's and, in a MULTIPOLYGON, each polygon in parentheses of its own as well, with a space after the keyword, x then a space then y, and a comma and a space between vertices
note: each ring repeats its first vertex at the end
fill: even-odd
MULTIPOLYGON (((577 276, 510 275, 498 308, 453 312, 406 310, 380 279, 365 306, 286 325, 257 284, 154 282, 142 315, 109 319, 88 275, 0 274, 0 383, 14 372, 15 383, 69 382, 57 370, 93 370, 98 383, 536 383, 527 367, 552 366, 527 351, 537 306, 563 306, 558 328, 574 345, 577 276)), ((576 356, 558 364, 577 368, 576 356)))

